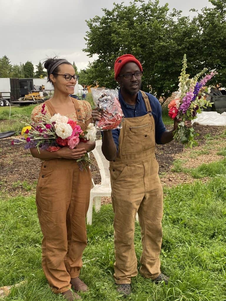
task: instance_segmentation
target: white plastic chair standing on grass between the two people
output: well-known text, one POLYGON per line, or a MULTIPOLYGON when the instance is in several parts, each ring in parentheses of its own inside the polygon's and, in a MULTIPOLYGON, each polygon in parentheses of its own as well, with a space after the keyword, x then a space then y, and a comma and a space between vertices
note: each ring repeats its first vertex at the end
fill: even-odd
POLYGON ((101 197, 111 196, 111 182, 110 182, 110 172, 109 172, 109 161, 104 157, 101 150, 102 140, 96 141, 96 147, 92 151, 97 165, 100 169, 101 184, 95 185, 93 182, 93 188, 90 191, 89 198, 89 209, 87 211, 87 224, 92 225, 93 217, 93 200, 96 212, 100 210, 101 197))

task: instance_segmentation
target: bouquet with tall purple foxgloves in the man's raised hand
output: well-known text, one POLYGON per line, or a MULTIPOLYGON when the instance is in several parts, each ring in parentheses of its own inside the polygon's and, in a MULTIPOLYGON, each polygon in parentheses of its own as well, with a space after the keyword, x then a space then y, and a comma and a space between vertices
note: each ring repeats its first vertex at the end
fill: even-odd
POLYGON ((186 147, 192 147, 193 145, 198 145, 194 138, 199 134, 195 133, 193 128, 185 126, 185 121, 195 119, 197 113, 201 113, 202 108, 212 107, 212 103, 206 101, 202 94, 200 95, 200 90, 217 72, 211 71, 198 81, 198 79, 206 73, 207 68, 204 68, 192 79, 189 79, 189 74, 186 74, 186 68, 187 59, 186 54, 184 54, 183 68, 179 77, 178 93, 176 98, 170 102, 168 108, 169 116, 172 119, 181 119, 177 129, 174 131, 173 138, 185 144, 186 147))

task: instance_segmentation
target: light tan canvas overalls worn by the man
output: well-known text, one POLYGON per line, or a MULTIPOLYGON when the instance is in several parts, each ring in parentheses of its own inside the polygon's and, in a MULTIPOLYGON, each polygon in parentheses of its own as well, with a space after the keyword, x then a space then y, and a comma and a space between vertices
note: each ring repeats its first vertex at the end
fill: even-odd
POLYGON ((135 217, 138 212, 143 253, 140 273, 155 279, 160 274, 163 197, 159 164, 155 159, 155 120, 147 95, 147 113, 125 118, 119 135, 118 154, 110 162, 111 197, 115 213, 115 282, 126 284, 137 275, 134 249, 135 217))

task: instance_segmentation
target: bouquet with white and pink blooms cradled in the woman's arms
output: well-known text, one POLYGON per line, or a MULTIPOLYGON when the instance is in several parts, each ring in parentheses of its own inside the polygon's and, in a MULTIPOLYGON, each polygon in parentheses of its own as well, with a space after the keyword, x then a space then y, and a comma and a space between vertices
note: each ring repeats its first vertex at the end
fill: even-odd
MULTIPOLYGON (((59 113, 51 118, 46 116, 45 104, 42 105, 41 113, 37 115, 39 122, 35 123, 30 120, 30 124, 25 123, 22 129, 20 139, 12 141, 12 145, 26 143, 25 149, 36 147, 40 150, 58 151, 61 147, 67 146, 71 149, 76 147, 80 141, 94 142, 96 140, 96 128, 93 123, 89 123, 86 131, 82 131, 81 127, 66 116, 59 113)), ((85 165, 83 163, 92 163, 88 154, 76 160, 79 162, 80 169, 85 165)))

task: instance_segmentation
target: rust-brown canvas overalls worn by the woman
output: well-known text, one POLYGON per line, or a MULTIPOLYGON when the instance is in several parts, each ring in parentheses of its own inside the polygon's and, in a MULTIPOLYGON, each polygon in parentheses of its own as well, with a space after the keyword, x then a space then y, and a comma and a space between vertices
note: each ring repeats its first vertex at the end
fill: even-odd
MULTIPOLYGON (((81 110, 74 100, 78 122, 81 110)), ((51 115, 56 112, 45 102, 51 115)), ((52 159, 42 163, 39 174, 36 205, 42 240, 42 268, 54 293, 71 288, 71 278, 79 276, 82 253, 87 245, 86 213, 89 207, 91 173, 80 171, 76 160, 52 159)))

